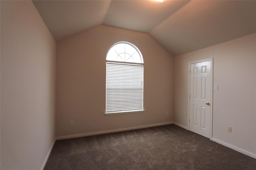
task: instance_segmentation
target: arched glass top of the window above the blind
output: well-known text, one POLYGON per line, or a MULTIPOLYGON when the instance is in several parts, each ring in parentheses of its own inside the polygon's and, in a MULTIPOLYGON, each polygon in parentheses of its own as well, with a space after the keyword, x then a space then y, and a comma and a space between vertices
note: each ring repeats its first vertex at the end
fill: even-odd
POLYGON ((118 61, 124 63, 141 63, 143 64, 143 58, 140 50, 128 42, 115 43, 107 54, 107 61, 118 61))

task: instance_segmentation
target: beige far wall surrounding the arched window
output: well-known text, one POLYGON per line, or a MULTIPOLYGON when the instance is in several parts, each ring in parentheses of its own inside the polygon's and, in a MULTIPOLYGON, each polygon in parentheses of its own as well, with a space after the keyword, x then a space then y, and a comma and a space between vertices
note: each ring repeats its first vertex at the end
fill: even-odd
POLYGON ((172 56, 148 34, 100 25, 58 41, 56 48, 57 137, 172 121, 172 56), (119 41, 142 53, 144 113, 104 115, 106 54, 119 41))

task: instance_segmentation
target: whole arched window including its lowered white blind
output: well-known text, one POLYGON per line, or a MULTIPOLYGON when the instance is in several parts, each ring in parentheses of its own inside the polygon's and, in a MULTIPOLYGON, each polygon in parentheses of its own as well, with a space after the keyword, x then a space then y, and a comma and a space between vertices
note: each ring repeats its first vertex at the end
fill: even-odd
POLYGON ((143 58, 139 49, 118 42, 106 57, 106 114, 143 111, 143 58))

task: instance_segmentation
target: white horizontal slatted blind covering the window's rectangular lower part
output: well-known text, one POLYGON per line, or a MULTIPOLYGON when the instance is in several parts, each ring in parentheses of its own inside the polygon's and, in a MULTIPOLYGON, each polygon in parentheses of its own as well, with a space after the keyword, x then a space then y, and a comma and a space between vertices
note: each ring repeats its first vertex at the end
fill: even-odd
POLYGON ((143 110, 143 63, 106 62, 106 113, 143 110))

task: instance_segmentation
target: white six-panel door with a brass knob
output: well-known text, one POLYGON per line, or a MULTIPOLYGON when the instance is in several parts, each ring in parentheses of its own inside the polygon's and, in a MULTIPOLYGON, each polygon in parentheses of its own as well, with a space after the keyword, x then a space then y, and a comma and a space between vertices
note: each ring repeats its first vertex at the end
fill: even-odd
POLYGON ((210 138, 211 60, 190 64, 189 129, 210 138))

